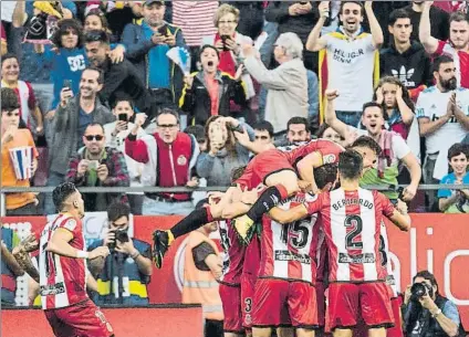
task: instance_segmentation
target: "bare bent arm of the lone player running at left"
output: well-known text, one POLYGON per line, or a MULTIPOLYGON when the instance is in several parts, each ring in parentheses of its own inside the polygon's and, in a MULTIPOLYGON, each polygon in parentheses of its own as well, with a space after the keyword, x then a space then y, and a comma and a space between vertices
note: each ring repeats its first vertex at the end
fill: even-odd
POLYGON ((95 259, 97 256, 105 257, 110 254, 110 249, 107 246, 98 246, 92 252, 79 251, 69 244, 72 239, 72 232, 66 229, 59 228, 48 242, 45 250, 54 254, 74 259, 95 259))

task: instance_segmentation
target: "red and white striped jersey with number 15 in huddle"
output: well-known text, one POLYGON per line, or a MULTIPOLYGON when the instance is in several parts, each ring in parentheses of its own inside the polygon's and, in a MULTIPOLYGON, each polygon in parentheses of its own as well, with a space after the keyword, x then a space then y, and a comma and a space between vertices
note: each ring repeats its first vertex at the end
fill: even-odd
MULTIPOLYGON (((311 194, 298 193, 279 207, 289 210, 305 200, 314 200, 311 194)), ((313 283, 316 277, 315 249, 317 244, 317 215, 281 224, 264 215, 262 219, 261 265, 259 277, 275 277, 313 283)))

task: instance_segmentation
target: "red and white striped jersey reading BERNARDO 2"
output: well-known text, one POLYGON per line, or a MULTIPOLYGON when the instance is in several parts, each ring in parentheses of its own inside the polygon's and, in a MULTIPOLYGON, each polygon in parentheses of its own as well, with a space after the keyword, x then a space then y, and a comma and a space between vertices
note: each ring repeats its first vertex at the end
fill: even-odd
POLYGON ((330 282, 385 281, 379 234, 383 215, 394 207, 377 191, 337 189, 309 202, 309 213, 321 212, 329 248, 330 282))

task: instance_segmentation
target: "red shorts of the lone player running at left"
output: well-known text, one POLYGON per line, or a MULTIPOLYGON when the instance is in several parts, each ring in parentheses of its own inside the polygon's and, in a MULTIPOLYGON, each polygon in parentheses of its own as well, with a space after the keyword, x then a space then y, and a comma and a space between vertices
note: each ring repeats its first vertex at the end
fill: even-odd
POLYGON ((91 299, 59 309, 44 310, 56 337, 111 337, 111 324, 91 299))

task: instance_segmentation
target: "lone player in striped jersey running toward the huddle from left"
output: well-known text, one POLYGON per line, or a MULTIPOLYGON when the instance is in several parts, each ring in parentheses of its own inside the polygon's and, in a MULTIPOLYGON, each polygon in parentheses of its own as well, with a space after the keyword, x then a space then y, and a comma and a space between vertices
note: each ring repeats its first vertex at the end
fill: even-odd
POLYGON ((84 203, 73 183, 53 191, 59 215, 41 233, 39 273, 42 308, 58 337, 110 337, 113 329, 86 294, 86 259, 106 257, 107 246, 86 252, 84 203))

